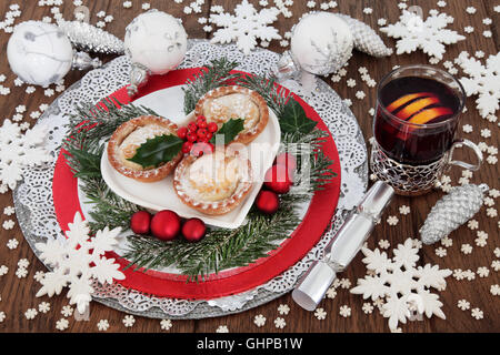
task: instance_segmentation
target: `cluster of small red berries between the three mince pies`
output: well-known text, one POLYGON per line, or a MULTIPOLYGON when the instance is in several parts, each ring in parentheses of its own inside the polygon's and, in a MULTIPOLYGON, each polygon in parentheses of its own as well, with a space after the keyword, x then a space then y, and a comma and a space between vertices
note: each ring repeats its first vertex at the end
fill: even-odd
POLYGON ((213 134, 219 128, 216 122, 207 122, 207 119, 199 115, 194 122, 190 122, 188 126, 181 126, 177 130, 177 135, 184 140, 182 152, 201 156, 213 152, 213 144, 210 143, 213 134))

